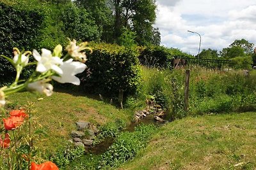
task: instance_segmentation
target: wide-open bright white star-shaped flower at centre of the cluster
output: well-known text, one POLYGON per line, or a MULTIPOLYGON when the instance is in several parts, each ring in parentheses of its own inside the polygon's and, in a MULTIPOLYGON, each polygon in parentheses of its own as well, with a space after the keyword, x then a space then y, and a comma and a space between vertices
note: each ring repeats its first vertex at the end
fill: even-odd
POLYGON ((44 73, 52 69, 58 74, 62 74, 63 71, 60 69, 60 65, 63 64, 60 57, 52 57, 52 52, 42 48, 42 55, 38 53, 35 49, 33 50, 33 56, 38 61, 36 66, 36 71, 44 73))

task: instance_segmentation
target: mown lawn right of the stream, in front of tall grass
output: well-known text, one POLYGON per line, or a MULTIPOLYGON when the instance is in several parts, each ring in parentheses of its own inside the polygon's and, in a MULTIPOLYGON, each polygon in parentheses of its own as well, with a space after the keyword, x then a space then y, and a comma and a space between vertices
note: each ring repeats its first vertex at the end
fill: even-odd
POLYGON ((120 169, 255 169, 255 122, 254 112, 176 120, 120 169))

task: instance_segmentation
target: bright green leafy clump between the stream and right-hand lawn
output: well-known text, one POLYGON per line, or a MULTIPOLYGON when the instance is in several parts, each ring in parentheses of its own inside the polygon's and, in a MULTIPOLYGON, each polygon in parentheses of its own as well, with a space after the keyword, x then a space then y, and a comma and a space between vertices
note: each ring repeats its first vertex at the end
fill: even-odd
POLYGON ((109 169, 131 160, 142 148, 145 148, 154 131, 156 131, 154 125, 140 125, 134 132, 123 132, 102 155, 99 167, 109 169))

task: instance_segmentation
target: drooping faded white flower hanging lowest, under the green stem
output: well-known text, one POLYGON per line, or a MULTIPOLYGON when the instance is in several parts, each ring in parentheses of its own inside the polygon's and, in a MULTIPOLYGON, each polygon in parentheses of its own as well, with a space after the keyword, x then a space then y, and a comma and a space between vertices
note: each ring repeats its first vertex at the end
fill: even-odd
POLYGON ((36 91, 51 96, 53 93, 53 87, 50 83, 46 83, 47 80, 39 80, 28 84, 28 90, 36 91))

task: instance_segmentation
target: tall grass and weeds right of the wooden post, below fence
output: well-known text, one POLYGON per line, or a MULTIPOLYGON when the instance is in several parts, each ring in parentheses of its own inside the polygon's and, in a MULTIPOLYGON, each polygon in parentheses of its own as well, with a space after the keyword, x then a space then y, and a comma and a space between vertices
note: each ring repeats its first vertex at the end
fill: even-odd
POLYGON ((189 113, 223 113, 255 110, 255 71, 191 72, 189 113), (197 73, 196 73, 197 72, 197 73))

